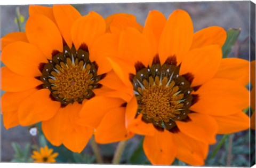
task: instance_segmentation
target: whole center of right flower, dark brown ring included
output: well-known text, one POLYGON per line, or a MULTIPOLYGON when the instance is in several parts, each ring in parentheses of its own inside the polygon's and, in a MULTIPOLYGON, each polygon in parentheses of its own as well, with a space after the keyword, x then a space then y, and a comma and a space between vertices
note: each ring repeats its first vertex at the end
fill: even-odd
POLYGON ((138 101, 136 117, 142 114, 142 121, 152 123, 156 129, 171 131, 175 121, 184 121, 190 113, 191 82, 186 75, 179 75, 175 57, 168 58, 161 66, 156 56, 151 67, 137 62, 135 68, 137 73, 130 79, 138 101))

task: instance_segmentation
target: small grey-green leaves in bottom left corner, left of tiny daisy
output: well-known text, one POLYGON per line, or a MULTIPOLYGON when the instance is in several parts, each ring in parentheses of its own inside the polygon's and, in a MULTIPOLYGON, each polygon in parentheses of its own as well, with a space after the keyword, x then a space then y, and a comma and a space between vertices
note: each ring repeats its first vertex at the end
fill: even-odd
POLYGON ((25 163, 33 162, 33 159, 30 157, 31 146, 29 143, 26 144, 23 150, 21 149, 19 143, 16 143, 16 142, 12 142, 12 147, 15 151, 15 154, 11 162, 25 162, 25 163))

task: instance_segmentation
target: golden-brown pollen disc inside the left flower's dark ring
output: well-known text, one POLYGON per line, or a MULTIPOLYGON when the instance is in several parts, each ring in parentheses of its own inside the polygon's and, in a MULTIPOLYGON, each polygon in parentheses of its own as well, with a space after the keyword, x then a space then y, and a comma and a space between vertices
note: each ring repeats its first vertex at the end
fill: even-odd
POLYGON ((67 64, 61 62, 61 66, 56 66, 59 73, 52 71, 51 75, 54 79, 49 79, 53 85, 53 94, 59 94, 60 98, 66 101, 77 101, 83 99, 88 94, 88 90, 92 90, 94 83, 93 75, 90 73, 91 65, 84 65, 83 61, 73 64, 70 58, 67 58, 67 64))

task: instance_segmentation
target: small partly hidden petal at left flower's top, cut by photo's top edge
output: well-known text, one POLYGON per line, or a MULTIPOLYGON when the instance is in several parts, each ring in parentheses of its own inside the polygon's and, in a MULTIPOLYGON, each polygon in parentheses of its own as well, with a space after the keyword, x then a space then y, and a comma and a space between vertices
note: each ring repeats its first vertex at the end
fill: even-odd
POLYGON ((36 14, 42 14, 42 15, 45 15, 45 17, 51 19, 54 23, 56 22, 53 15, 52 7, 29 5, 28 12, 30 16, 36 15, 36 14))

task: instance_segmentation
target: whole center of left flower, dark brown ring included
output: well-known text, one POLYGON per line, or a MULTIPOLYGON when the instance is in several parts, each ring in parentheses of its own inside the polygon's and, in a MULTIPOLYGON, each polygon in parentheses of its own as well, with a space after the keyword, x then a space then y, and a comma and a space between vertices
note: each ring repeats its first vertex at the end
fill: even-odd
POLYGON ((53 55, 43 65, 42 86, 62 105, 90 99, 94 96, 92 90, 100 87, 98 81, 102 75, 97 75, 97 65, 89 60, 87 47, 83 48, 76 51, 74 46, 69 49, 66 45, 62 53, 53 55))

